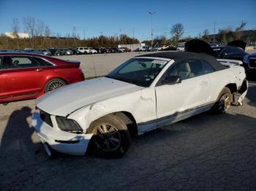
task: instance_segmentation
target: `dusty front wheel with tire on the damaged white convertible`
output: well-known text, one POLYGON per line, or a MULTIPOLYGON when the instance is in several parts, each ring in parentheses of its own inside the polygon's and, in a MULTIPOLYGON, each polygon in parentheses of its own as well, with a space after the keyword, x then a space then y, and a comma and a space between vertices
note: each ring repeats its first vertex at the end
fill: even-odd
POLYGON ((93 133, 89 152, 97 157, 118 158, 124 156, 130 144, 127 125, 114 114, 108 114, 91 123, 87 133, 93 133))

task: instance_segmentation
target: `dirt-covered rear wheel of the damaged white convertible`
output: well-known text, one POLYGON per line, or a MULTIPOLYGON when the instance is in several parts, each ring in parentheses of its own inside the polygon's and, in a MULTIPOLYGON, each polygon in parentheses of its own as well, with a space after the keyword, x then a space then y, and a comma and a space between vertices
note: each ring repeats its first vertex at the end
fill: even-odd
POLYGON ((215 114, 225 114, 231 105, 231 91, 228 87, 224 87, 219 93, 217 102, 212 107, 211 111, 215 114))

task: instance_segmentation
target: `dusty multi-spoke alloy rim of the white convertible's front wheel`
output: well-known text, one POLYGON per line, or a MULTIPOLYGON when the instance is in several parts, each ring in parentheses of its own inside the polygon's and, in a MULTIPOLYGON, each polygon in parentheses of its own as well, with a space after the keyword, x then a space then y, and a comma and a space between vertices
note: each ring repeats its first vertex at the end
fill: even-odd
POLYGON ((93 133, 97 135, 97 139, 94 141, 97 150, 112 152, 120 147, 121 135, 115 126, 102 123, 94 128, 93 133))

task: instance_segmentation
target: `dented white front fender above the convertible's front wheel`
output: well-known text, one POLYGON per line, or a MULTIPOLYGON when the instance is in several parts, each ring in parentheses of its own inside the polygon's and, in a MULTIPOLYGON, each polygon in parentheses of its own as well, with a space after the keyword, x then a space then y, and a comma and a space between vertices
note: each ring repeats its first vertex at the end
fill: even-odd
POLYGON ((154 87, 83 106, 69 114, 68 118, 77 121, 86 130, 94 120, 116 112, 129 112, 138 123, 155 120, 157 114, 154 87))

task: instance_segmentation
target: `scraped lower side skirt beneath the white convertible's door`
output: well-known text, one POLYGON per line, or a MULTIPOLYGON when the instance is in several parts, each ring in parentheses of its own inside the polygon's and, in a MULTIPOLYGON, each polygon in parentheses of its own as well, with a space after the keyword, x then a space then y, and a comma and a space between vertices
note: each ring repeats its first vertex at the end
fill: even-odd
POLYGON ((167 117, 159 118, 158 120, 152 120, 149 122, 143 122, 138 124, 138 135, 142 135, 143 133, 146 133, 150 130, 154 130, 166 125, 170 125, 174 122, 178 122, 181 120, 185 120, 188 117, 192 117, 196 114, 200 114, 203 112, 206 112, 211 109, 212 106, 214 106, 215 102, 211 104, 206 104, 203 106, 195 107, 193 109, 187 109, 184 112, 176 112, 175 114, 172 114, 167 117))

